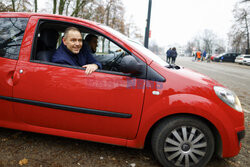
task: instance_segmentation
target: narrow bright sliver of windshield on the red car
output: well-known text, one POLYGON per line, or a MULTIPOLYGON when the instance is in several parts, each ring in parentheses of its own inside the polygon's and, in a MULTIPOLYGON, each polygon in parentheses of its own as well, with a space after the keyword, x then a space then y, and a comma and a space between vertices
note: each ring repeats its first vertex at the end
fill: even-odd
POLYGON ((126 37, 125 35, 123 35, 122 33, 108 27, 105 25, 100 25, 103 29, 105 29, 106 31, 110 32, 111 34, 119 37, 122 40, 125 40, 127 43, 129 43, 130 45, 134 46, 136 49, 138 49, 143 55, 149 57, 150 59, 152 59, 154 62, 158 63, 161 66, 168 66, 169 64, 167 62, 165 62, 164 60, 162 60, 159 56, 157 56, 156 54, 154 54, 153 52, 151 52, 149 49, 145 48, 139 41, 130 39, 128 37, 126 37))

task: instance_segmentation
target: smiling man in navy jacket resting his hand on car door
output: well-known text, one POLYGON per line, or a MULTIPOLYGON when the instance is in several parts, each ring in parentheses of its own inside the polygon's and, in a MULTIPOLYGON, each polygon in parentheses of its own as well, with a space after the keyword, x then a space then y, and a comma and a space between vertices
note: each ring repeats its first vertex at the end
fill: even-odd
POLYGON ((64 32, 61 45, 52 56, 53 63, 67 64, 86 68, 85 73, 91 74, 102 65, 89 52, 82 49, 83 41, 80 31, 69 27, 64 32))

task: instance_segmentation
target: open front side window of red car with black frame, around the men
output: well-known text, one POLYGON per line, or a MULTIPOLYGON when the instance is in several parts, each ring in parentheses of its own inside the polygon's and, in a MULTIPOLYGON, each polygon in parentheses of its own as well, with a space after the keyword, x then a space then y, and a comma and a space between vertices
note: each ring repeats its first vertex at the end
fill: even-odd
MULTIPOLYGON (((31 55, 31 61, 36 63, 48 64, 52 66, 63 66, 67 68, 77 68, 80 66, 71 66, 68 64, 58 64, 52 62, 52 57, 60 44, 64 36, 64 31, 68 27, 76 27, 80 30, 83 38, 83 46, 86 41, 85 37, 88 34, 93 34, 98 37, 98 45, 96 52, 92 56, 102 65, 102 69, 98 69, 99 72, 112 73, 116 75, 130 75, 124 73, 121 68, 121 62, 123 57, 132 56, 136 59, 137 63, 141 64, 144 73, 136 75, 134 77, 146 78, 146 64, 129 51, 123 48, 111 39, 109 36, 102 34, 98 31, 91 29, 91 27, 85 27, 70 22, 51 21, 51 20, 40 20, 36 30, 36 36, 33 42, 33 49, 31 55)), ((85 47, 83 47, 84 49, 85 47)))

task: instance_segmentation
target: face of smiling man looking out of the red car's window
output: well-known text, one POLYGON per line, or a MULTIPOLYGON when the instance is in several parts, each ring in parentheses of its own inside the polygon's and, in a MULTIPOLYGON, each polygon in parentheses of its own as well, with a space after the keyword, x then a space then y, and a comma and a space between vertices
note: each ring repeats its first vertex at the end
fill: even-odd
POLYGON ((78 54, 82 48, 82 35, 79 31, 70 30, 63 38, 63 44, 74 54, 78 54))

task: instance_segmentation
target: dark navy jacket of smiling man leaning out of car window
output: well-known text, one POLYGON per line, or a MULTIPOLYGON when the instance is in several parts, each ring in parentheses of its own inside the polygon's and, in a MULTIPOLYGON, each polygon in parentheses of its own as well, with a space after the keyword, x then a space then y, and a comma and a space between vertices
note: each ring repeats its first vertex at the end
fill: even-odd
POLYGON ((88 50, 84 50, 86 48, 86 46, 83 46, 83 48, 78 54, 74 54, 70 50, 68 50, 68 48, 62 42, 54 53, 54 55, 52 56, 52 62, 80 67, 86 64, 96 64, 98 65, 98 68, 101 69, 101 63, 96 61, 96 59, 88 50))

